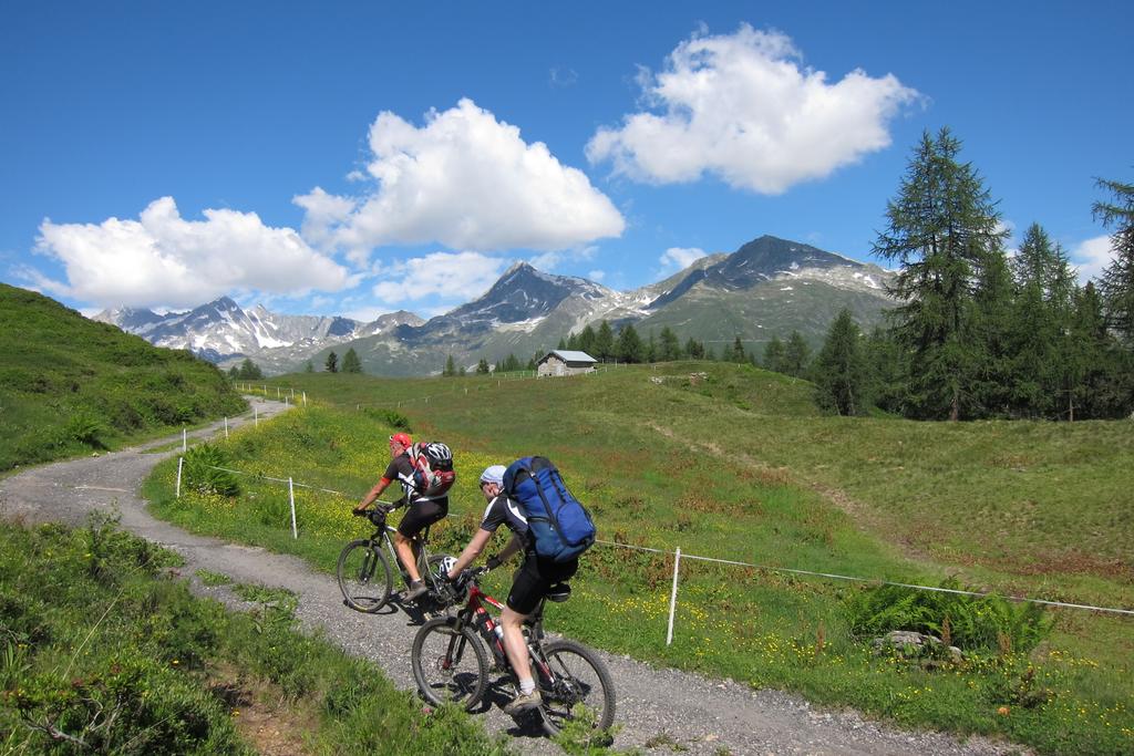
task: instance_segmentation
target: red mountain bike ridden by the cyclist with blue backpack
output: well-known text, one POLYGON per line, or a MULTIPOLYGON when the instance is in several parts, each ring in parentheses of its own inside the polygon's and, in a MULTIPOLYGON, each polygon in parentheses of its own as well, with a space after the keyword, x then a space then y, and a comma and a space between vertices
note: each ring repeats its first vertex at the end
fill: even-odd
MULTIPOLYGON (((429 620, 414 637, 409 652, 414 680, 431 704, 449 702, 472 711, 488 689, 489 654, 491 669, 507 672, 514 691, 519 691, 518 678, 503 649, 499 618, 485 608, 502 611, 503 605, 481 591, 477 579, 486 571, 484 567, 465 570, 456 588, 447 586, 447 592, 440 594, 442 603, 456 605, 464 601, 464 606, 455 615, 429 620)), ((544 731, 552 736, 576 717, 593 717, 598 730, 610 728, 615 721, 615 685, 602 660, 574 640, 551 640, 544 635, 543 605, 548 598, 566 601, 570 589, 564 588, 540 601, 523 628, 532 677, 543 699, 538 711, 544 731)))

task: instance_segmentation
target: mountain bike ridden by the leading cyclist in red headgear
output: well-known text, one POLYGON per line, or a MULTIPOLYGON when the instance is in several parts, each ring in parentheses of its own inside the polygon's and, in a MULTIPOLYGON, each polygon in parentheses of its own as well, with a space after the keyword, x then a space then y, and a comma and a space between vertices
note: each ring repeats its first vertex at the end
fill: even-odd
MULTIPOLYGON (((393 550, 391 534, 396 530, 386 521, 391 504, 384 501, 378 504, 373 509, 355 512, 357 517, 369 519, 374 525, 374 532, 369 538, 348 543, 339 554, 335 570, 339 578, 339 591, 342 592, 344 603, 367 614, 380 611, 390 601, 393 591, 391 564, 398 568, 401 581, 409 587, 409 576, 393 550)), ((426 595, 435 595, 439 587, 437 572, 448 554, 430 554, 426 549, 428 541, 429 527, 425 527, 414 538, 414 553, 417 554, 417 572, 430 588, 430 594, 426 595)))

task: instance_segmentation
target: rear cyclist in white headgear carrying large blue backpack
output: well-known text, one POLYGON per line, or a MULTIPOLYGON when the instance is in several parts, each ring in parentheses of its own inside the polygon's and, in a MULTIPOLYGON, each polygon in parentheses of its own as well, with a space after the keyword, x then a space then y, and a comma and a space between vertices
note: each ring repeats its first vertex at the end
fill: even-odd
POLYGON ((521 628, 553 588, 561 589, 561 584, 575 575, 578 555, 594 543, 594 525, 562 484, 559 472, 543 457, 524 457, 507 468, 492 465, 481 473, 480 485, 488 507, 480 528, 447 577, 459 580, 462 571, 476 560, 501 525, 511 530, 511 540, 485 564, 494 569, 513 554, 524 554, 500 615, 505 652, 519 679, 519 694, 503 711, 518 714, 541 703, 521 628))

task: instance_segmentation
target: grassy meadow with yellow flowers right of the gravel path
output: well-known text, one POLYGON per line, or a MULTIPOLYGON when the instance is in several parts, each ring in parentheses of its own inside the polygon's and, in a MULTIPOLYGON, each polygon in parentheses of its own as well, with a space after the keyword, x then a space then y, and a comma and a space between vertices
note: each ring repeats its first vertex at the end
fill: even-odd
MULTIPOLYGON (((938 634, 975 638, 963 662, 875 654, 862 606, 890 601, 887 611, 913 615, 916 598, 688 559, 1128 609, 1129 422, 826 417, 805 382, 719 363, 540 381, 304 374, 268 384, 270 397, 278 385, 306 391, 310 406, 215 444, 226 466, 345 495, 297 487, 294 541, 286 486, 238 476, 237 496, 174 500, 175 460, 149 483, 158 513, 331 571, 342 543, 365 530, 349 508, 384 467, 395 426, 455 450, 451 513, 434 532, 452 550, 483 509, 480 469, 542 453, 589 504, 602 540, 683 552, 672 645, 672 557, 606 544, 584 559, 573 600, 550 612, 552 629, 903 724, 1043 753, 1134 750, 1134 618, 1047 610, 1036 619, 1017 603, 946 602, 936 618, 951 619, 938 634)), ((492 576, 499 593, 505 572, 492 576)))

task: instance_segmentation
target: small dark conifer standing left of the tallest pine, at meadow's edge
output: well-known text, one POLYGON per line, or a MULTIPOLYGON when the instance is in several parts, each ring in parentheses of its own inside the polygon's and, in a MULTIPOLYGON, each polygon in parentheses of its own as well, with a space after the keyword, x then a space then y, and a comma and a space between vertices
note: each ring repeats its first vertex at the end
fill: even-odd
POLYGON ((815 401, 839 415, 865 415, 870 407, 871 374, 862 331, 849 309, 831 322, 815 357, 815 401))

